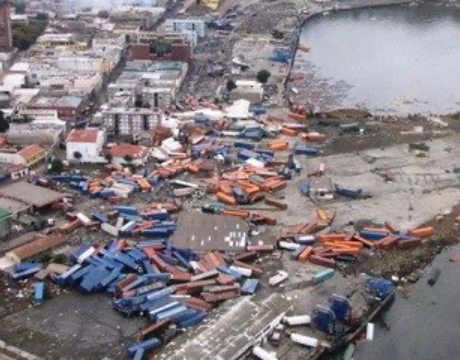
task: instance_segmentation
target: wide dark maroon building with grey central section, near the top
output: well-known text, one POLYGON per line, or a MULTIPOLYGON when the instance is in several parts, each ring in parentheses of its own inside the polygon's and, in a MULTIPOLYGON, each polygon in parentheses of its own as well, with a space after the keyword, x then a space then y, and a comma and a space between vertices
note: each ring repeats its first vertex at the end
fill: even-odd
POLYGON ((131 46, 133 60, 182 61, 190 63, 192 47, 180 33, 139 31, 131 46))

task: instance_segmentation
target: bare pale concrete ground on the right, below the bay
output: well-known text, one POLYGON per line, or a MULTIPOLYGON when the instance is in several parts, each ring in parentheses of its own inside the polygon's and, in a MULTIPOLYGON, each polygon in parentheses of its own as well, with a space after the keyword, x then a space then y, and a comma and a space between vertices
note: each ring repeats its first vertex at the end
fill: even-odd
MULTIPOLYGON (((335 227, 349 222, 369 219, 389 221, 406 230, 450 211, 460 202, 460 177, 452 170, 460 165, 460 146, 455 138, 427 143, 427 157, 417 157, 408 145, 373 149, 359 154, 342 154, 301 159, 307 172, 326 164, 326 175, 341 186, 363 189, 370 199, 350 200, 337 197, 331 201, 313 203, 300 197, 301 176, 292 181, 286 190, 289 209, 282 214, 282 222, 295 224, 308 221, 317 208, 337 211, 335 227), (385 182, 381 175, 388 174, 393 182, 385 182)), ((300 157, 299 157, 300 159, 300 157)))

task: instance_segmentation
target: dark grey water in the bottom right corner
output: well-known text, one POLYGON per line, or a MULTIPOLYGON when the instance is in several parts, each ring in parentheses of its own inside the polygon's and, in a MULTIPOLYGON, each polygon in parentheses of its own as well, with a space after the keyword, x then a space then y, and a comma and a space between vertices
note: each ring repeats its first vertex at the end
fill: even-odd
POLYGON ((459 246, 435 259, 408 298, 397 296, 376 322, 374 340, 358 343, 355 360, 460 359, 460 263, 450 257, 460 259, 459 246), (434 268, 441 276, 431 287, 434 268))

